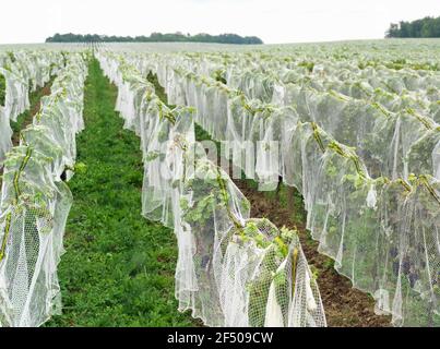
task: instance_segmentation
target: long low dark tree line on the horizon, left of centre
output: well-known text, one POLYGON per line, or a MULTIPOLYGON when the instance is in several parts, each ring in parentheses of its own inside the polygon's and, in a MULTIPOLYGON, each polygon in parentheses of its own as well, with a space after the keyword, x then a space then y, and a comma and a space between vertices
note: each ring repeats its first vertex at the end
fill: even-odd
POLYGON ((257 36, 240 36, 237 34, 162 34, 153 33, 150 36, 107 36, 98 34, 55 34, 46 43, 215 43, 237 45, 261 45, 263 40, 257 36))

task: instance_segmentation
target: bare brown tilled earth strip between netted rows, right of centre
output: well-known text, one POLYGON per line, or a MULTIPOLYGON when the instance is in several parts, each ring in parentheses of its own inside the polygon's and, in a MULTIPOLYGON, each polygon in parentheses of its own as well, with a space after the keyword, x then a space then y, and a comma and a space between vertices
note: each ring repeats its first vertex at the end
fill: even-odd
MULTIPOLYGON (((329 326, 335 327, 387 327, 390 316, 376 315, 373 299, 352 287, 348 278, 332 267, 329 257, 318 252, 318 243, 312 241, 305 225, 293 224, 292 215, 278 200, 250 188, 246 181, 236 180, 236 185, 251 203, 251 217, 267 218, 277 227, 297 228, 302 250, 310 265, 318 269, 318 284, 329 326)), ((299 207, 298 207, 299 209, 299 207)), ((304 209, 300 207, 300 209, 304 209)))

